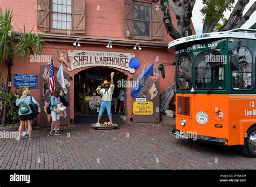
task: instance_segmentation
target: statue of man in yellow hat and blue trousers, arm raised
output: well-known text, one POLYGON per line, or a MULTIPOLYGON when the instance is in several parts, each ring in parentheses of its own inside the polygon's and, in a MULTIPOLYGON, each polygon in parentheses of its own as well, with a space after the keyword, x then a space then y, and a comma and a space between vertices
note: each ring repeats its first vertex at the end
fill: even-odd
POLYGON ((107 116, 109 116, 110 124, 113 125, 112 123, 112 113, 111 113, 111 100, 112 100, 112 94, 114 91, 114 81, 113 81, 114 73, 111 73, 111 82, 107 82, 106 80, 103 82, 102 88, 97 88, 96 91, 102 95, 102 103, 100 104, 100 109, 99 109, 99 115, 98 115, 98 121, 95 124, 96 126, 99 126, 100 119, 103 116, 103 112, 106 109, 107 110, 107 116))

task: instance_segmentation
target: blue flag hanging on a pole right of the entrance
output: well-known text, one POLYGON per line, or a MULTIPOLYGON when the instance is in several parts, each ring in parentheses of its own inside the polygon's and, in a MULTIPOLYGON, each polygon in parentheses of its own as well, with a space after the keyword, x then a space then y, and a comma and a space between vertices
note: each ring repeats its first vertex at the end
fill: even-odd
POLYGON ((140 76, 136 83, 133 85, 131 90, 132 98, 136 97, 139 94, 140 90, 142 90, 144 83, 147 80, 147 77, 154 75, 153 69, 154 62, 147 69, 145 69, 145 71, 143 71, 142 76, 140 76))

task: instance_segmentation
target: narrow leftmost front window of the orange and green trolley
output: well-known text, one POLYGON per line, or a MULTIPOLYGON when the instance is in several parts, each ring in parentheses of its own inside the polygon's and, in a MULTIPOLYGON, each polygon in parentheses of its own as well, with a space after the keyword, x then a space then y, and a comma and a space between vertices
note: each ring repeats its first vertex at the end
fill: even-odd
POLYGON ((192 60, 188 55, 178 59, 178 85, 181 89, 192 88, 192 60))

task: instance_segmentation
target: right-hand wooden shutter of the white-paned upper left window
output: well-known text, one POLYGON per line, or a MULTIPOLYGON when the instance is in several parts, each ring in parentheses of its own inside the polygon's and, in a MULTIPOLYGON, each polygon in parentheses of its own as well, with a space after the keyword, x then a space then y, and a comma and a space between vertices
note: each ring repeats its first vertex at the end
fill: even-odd
POLYGON ((73 32, 85 33, 85 0, 73 0, 73 32))

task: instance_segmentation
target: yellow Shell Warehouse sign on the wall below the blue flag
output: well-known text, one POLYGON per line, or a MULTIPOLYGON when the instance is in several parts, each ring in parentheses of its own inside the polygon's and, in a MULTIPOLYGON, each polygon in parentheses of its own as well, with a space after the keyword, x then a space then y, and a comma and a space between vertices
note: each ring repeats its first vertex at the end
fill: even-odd
POLYGON ((152 115, 153 112, 153 102, 133 102, 134 115, 152 115))

